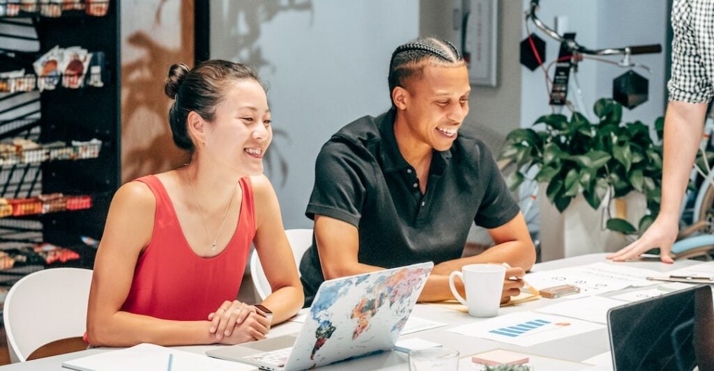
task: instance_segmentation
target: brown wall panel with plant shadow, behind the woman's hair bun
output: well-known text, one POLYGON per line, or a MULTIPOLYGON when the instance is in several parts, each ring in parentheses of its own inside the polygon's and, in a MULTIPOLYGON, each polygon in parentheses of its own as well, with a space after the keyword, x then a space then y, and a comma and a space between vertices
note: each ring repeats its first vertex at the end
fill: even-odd
MULTIPOLYGON (((164 94, 164 80, 169 67, 178 62, 193 64, 193 0, 140 1, 132 11, 153 12, 151 24, 128 27, 140 29, 122 35, 140 57, 121 66, 121 179, 129 182, 146 174, 164 172, 181 166, 190 158, 171 139, 168 113, 173 102, 164 94), (162 17, 169 1, 180 1, 178 25, 174 19, 162 17), (177 27, 178 26, 178 27, 177 27), (180 29, 178 42, 161 38, 161 28, 180 29)), ((123 17, 124 22, 140 21, 140 17, 123 17)), ((124 28, 124 26, 122 26, 124 28)), ((165 30, 164 30, 165 31, 165 30)), ((165 32, 164 32, 165 34, 165 32)))

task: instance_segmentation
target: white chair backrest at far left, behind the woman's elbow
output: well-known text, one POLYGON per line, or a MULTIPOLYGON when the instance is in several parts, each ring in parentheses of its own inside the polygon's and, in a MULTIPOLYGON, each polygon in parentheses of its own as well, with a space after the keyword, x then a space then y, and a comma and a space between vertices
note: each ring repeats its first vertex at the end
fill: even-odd
POLYGON ((10 362, 25 362, 42 345, 84 335, 92 271, 50 268, 10 288, 3 319, 10 362))

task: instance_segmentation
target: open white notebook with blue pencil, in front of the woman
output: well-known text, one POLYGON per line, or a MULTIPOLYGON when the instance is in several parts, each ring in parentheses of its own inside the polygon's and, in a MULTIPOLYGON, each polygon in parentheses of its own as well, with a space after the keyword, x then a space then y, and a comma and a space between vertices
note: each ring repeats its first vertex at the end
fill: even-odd
POLYGON ((255 366, 218 360, 183 350, 174 350, 161 345, 139 344, 131 348, 112 350, 62 363, 62 367, 79 371, 125 371, 168 370, 169 355, 171 371, 256 370, 255 366))

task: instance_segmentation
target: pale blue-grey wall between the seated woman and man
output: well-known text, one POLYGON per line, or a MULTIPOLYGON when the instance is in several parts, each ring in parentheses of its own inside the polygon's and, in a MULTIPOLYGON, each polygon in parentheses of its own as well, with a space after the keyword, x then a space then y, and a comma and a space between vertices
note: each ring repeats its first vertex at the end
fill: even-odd
POLYGON ((411 0, 211 1, 211 58, 248 63, 268 86, 276 135, 266 174, 287 229, 312 227, 304 212, 323 143, 389 108, 391 53, 418 36, 418 22, 411 0))

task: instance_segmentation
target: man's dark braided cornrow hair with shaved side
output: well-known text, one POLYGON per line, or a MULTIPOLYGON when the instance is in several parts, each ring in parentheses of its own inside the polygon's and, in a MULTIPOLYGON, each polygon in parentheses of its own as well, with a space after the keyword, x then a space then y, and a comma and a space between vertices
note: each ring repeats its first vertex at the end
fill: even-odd
MULTIPOLYGON (((389 61, 389 95, 394 88, 404 88, 410 78, 421 78, 426 59, 438 64, 463 65, 463 56, 456 46, 446 40, 419 38, 396 48, 389 61)), ((394 103, 392 102, 392 106, 394 103)))

